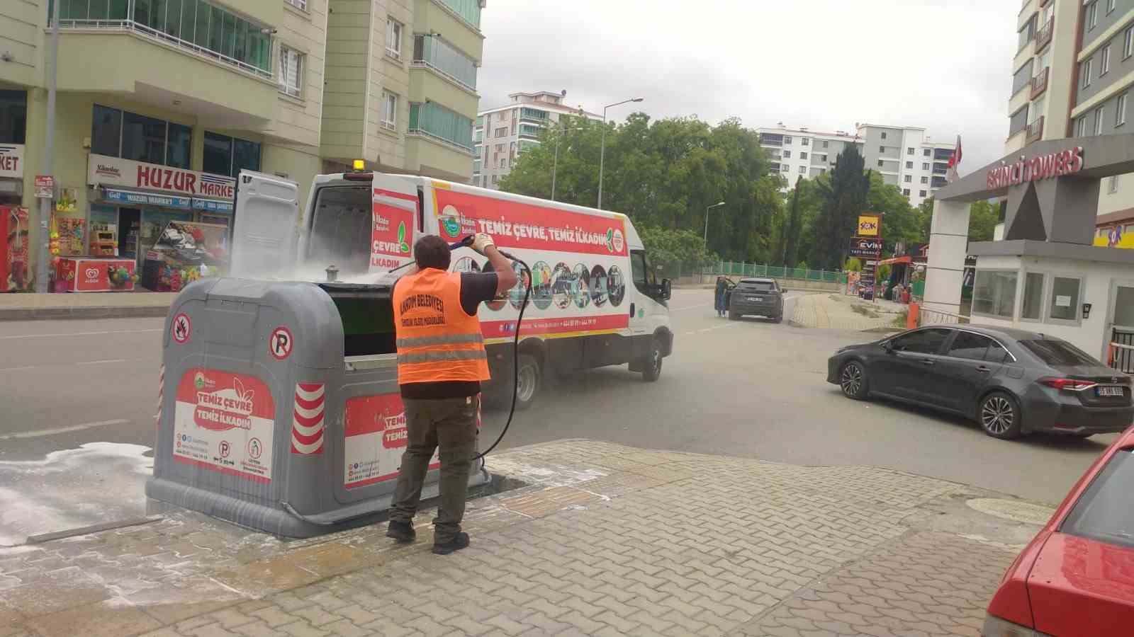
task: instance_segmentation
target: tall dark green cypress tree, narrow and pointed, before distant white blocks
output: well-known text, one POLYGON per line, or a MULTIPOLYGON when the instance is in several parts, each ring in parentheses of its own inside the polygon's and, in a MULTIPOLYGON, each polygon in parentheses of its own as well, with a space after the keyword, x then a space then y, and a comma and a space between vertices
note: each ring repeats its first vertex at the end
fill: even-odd
POLYGON ((873 171, 864 168, 862 153, 852 144, 835 160, 829 180, 818 182, 823 196, 823 209, 814 226, 815 243, 809 258, 812 267, 835 270, 843 263, 858 215, 869 205, 873 171))

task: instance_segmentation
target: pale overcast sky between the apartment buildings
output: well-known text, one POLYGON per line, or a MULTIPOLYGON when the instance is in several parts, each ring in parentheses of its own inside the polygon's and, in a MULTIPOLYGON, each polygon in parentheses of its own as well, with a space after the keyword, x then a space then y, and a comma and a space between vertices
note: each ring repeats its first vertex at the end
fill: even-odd
POLYGON ((517 91, 710 122, 923 126, 1004 154, 1019 0, 488 0, 481 109, 517 91), (634 107, 632 109, 631 107, 634 107))

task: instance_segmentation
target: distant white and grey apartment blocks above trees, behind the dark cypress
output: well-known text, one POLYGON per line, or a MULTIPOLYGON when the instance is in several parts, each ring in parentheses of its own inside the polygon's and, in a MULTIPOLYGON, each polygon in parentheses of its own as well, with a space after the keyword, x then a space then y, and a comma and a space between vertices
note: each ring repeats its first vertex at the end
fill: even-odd
POLYGON ((855 130, 826 133, 779 124, 760 128, 760 145, 771 159, 771 171, 786 180, 785 190, 799 177, 813 179, 835 167, 835 159, 848 145, 858 146, 866 168, 879 172, 886 184, 902 189, 917 206, 945 186, 945 173, 955 142, 933 142, 915 126, 856 124, 855 130))

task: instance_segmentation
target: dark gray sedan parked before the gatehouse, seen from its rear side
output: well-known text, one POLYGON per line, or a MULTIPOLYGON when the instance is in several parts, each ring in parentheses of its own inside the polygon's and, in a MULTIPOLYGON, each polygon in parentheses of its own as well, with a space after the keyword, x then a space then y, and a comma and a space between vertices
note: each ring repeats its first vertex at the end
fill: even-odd
POLYGON ((827 382, 856 400, 959 414, 1001 439, 1086 438, 1134 421, 1129 376, 1063 339, 1010 328, 934 325, 844 347, 827 363, 827 382))

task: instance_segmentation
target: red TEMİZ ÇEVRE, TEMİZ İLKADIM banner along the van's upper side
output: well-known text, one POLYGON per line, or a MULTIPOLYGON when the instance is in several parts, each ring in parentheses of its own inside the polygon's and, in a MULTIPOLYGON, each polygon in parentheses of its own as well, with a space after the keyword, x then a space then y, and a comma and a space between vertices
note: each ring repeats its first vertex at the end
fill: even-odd
POLYGON ((433 196, 446 240, 488 232, 501 248, 628 254, 626 222, 619 215, 584 214, 438 187, 433 196))

